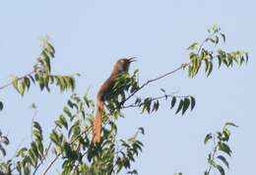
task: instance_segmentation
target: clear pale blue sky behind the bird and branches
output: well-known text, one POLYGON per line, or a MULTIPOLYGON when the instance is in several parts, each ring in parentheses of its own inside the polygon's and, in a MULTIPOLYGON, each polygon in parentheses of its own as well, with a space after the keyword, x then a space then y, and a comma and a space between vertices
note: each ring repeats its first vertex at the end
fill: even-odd
MULTIPOLYGON (((215 70, 210 78, 200 74, 192 80, 186 72, 178 72, 146 87, 143 94, 159 95, 160 87, 192 94, 197 105, 184 117, 174 115, 164 102, 151 116, 128 109, 127 117, 119 121, 119 134, 128 137, 136 128, 145 128, 145 147, 134 164, 139 174, 203 174, 211 148, 203 145, 204 136, 232 121, 239 128, 232 130, 233 156, 227 174, 253 174, 255 7, 253 0, 1 1, 0 84, 8 83, 10 75, 31 71, 39 53, 38 38, 48 34, 56 49, 53 72, 79 72, 77 91, 84 94, 91 87, 95 97, 119 57, 137 56, 131 69, 139 68, 140 80, 147 81, 186 62, 187 46, 204 39, 206 29, 219 24, 226 34, 224 48, 249 51, 248 65, 215 70)), ((0 129, 10 136, 9 150, 30 142, 32 102, 39 110, 36 119, 49 132, 70 94, 56 88, 41 93, 32 87, 21 97, 12 87, 2 90, 5 108, 0 112, 0 129)))

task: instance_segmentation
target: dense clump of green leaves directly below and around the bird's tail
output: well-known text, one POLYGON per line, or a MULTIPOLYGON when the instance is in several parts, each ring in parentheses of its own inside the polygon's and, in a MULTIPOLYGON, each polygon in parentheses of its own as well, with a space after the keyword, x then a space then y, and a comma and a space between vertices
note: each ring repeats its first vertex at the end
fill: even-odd
POLYGON ((143 144, 137 137, 144 130, 139 129, 127 141, 117 140, 114 118, 105 115, 102 141, 95 145, 92 143, 93 114, 85 112, 92 107, 94 103, 87 95, 80 98, 74 94, 55 122, 57 127, 50 138, 56 157, 63 159, 62 173, 113 174, 123 168, 135 173, 136 170, 131 170, 131 163, 142 150, 143 144), (110 119, 106 120, 107 117, 110 119))

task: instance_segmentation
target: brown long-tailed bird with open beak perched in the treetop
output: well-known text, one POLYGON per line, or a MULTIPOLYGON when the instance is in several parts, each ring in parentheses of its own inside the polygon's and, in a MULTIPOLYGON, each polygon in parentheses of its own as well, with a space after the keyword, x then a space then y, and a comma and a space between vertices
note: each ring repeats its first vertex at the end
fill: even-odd
POLYGON ((101 125, 102 125, 102 113, 104 101, 108 100, 111 93, 113 93, 113 86, 122 73, 127 73, 129 71, 130 64, 135 60, 136 57, 131 58, 120 58, 114 64, 112 72, 108 79, 101 85, 96 94, 96 116, 93 126, 93 143, 100 143, 101 140, 101 125))

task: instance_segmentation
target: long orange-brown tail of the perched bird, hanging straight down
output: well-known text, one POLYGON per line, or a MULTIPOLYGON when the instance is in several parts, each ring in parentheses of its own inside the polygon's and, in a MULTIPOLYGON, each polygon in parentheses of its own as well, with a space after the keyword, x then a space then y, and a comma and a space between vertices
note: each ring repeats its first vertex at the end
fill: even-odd
POLYGON ((93 143, 99 143, 101 139, 101 125, 102 125, 102 112, 103 112, 103 101, 97 101, 96 118, 93 128, 93 143))

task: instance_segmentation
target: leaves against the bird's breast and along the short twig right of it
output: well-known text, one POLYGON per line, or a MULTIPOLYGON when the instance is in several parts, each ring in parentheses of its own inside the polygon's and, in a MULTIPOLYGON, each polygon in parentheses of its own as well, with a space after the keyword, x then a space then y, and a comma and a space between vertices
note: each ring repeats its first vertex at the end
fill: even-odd
POLYGON ((138 90, 140 90, 145 85, 144 84, 139 87, 139 83, 137 81, 138 73, 139 71, 136 70, 132 76, 127 73, 119 76, 114 85, 114 94, 117 95, 112 94, 110 100, 111 103, 110 105, 107 105, 110 111, 119 108, 139 107, 141 108, 141 113, 147 112, 148 114, 151 114, 152 112, 157 112, 159 110, 160 99, 170 99, 170 109, 172 109, 178 103, 175 114, 181 113, 182 115, 184 115, 189 107, 191 110, 194 109, 196 101, 192 95, 180 96, 168 94, 163 88, 160 88, 160 91, 163 93, 163 95, 157 97, 149 96, 146 98, 137 96, 132 104, 123 105, 124 102, 127 101, 127 99, 132 97, 138 90))

